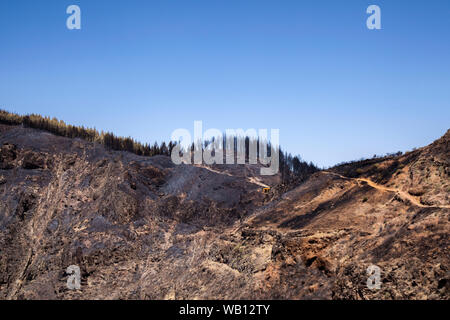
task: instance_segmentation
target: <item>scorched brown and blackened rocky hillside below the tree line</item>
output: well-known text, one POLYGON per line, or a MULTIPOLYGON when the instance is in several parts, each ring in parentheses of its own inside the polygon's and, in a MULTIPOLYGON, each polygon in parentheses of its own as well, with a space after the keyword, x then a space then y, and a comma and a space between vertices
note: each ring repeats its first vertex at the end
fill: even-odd
POLYGON ((387 160, 400 169, 319 172, 273 197, 238 167, 0 129, 2 299, 449 298, 448 135, 387 160))

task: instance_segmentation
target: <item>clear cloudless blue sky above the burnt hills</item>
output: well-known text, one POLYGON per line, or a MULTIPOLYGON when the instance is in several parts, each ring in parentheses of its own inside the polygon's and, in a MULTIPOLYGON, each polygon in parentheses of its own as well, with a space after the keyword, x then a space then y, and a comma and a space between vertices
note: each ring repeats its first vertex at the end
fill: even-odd
POLYGON ((328 166, 450 128, 448 0, 2 0, 0 44, 1 108, 142 142, 194 120, 279 128, 328 166))

